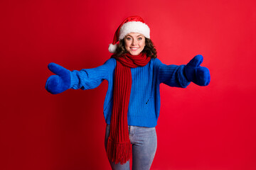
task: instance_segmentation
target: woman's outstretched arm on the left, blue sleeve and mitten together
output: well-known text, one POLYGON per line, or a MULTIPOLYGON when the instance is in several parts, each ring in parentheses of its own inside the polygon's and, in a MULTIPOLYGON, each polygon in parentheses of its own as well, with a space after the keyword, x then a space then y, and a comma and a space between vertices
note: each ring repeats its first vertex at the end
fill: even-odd
POLYGON ((60 94, 68 89, 95 89, 103 80, 112 78, 111 74, 114 72, 115 64, 115 60, 110 59, 100 67, 70 72, 58 64, 50 63, 48 69, 55 75, 47 79, 46 90, 50 94, 60 94))

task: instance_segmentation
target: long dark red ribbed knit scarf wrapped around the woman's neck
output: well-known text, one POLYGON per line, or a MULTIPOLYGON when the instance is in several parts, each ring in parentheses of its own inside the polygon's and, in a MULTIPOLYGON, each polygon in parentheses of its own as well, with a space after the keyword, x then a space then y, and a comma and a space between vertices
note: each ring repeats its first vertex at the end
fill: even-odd
POLYGON ((132 73, 130 68, 143 67, 151 60, 146 54, 117 57, 114 72, 113 108, 110 123, 110 136, 107 141, 107 157, 115 164, 124 164, 132 156, 132 145, 129 141, 127 112, 132 88, 132 73))

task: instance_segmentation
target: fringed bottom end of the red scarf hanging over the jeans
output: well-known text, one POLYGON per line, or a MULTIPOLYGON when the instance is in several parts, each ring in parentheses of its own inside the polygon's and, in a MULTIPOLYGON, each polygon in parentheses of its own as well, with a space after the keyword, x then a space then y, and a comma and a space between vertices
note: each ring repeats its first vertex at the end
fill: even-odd
POLYGON ((115 164, 125 164, 132 156, 132 144, 127 142, 114 142, 110 137, 107 140, 107 157, 115 164))

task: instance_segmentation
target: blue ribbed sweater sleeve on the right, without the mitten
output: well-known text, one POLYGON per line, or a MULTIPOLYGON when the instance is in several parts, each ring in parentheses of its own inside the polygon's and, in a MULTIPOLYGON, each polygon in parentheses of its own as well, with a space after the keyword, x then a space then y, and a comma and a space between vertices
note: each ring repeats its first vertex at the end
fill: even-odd
POLYGON ((154 67, 157 69, 157 79, 159 84, 164 83, 168 86, 186 88, 190 81, 186 79, 184 74, 185 65, 166 65, 160 60, 155 59, 154 67))

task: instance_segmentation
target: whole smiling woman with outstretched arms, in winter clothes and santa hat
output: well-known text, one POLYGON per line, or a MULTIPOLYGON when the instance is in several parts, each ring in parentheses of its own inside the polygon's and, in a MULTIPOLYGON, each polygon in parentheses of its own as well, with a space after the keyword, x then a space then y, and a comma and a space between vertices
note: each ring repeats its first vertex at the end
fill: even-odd
POLYGON ((156 152, 155 126, 159 118, 159 84, 185 88, 190 81, 207 86, 210 72, 197 55, 186 65, 166 65, 156 59, 150 30, 139 16, 126 18, 109 47, 114 53, 105 64, 70 72, 58 64, 46 81, 46 90, 59 94, 67 89, 94 89, 106 79, 104 103, 107 123, 105 148, 112 169, 150 169, 156 152))

